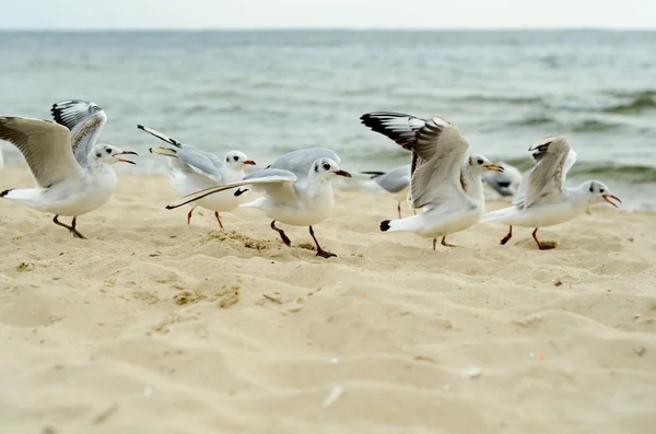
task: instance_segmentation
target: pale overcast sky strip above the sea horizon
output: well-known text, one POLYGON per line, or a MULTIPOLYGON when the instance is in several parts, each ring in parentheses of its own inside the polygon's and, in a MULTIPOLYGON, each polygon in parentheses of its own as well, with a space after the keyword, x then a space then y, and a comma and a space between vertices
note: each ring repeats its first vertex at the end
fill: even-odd
POLYGON ((656 28, 656 0, 0 0, 10 28, 656 28))

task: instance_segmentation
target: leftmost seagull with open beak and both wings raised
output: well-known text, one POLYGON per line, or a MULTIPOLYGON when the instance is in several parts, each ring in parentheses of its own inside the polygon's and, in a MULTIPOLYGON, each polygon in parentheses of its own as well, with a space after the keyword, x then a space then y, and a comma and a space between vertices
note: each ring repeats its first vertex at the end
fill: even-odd
POLYGON ((85 238, 77 219, 105 203, 116 189, 116 173, 110 166, 124 162, 118 155, 137 153, 108 144, 96 144, 107 121, 105 112, 85 101, 63 101, 51 108, 50 120, 0 117, 0 140, 21 151, 36 188, 8 189, 0 198, 21 202, 42 212, 54 213, 52 222, 68 228, 74 237, 85 238), (71 225, 59 215, 72 215, 71 225))

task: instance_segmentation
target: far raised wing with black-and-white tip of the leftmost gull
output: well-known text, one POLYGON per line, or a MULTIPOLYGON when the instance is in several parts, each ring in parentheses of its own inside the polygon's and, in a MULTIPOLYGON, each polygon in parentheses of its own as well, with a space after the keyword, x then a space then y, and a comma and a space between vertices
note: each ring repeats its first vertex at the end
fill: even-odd
POLYGON ((71 146, 75 161, 87 166, 87 156, 105 124, 107 115, 97 104, 81 101, 61 101, 50 108, 52 118, 71 131, 71 146))

